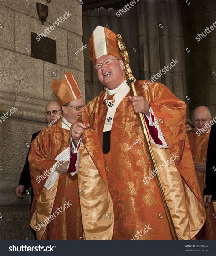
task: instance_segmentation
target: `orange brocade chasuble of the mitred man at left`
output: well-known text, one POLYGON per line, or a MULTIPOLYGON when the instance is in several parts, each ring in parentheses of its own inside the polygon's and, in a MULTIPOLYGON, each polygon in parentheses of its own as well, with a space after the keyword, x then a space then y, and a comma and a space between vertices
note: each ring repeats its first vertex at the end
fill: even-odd
POLYGON ((69 147, 69 133, 69 130, 62 128, 60 119, 51 127, 42 129, 31 143, 28 160, 34 198, 30 225, 36 231, 38 240, 79 240, 82 237, 77 175, 58 174, 50 190, 44 187, 48 177, 45 171, 55 164, 56 156, 69 147), (42 175, 45 179, 38 183, 38 177, 42 175), (69 202, 69 207, 66 205, 67 209, 63 210, 66 202, 69 202), (55 218, 48 224, 44 222, 39 230, 38 224, 51 215, 55 218))

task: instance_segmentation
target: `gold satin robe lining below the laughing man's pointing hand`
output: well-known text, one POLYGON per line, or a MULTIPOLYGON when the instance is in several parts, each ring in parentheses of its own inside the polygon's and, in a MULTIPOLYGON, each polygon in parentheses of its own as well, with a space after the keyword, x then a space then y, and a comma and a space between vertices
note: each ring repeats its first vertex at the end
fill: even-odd
POLYGON ((79 192, 86 240, 111 240, 113 203, 108 189, 84 144, 80 146, 79 192))

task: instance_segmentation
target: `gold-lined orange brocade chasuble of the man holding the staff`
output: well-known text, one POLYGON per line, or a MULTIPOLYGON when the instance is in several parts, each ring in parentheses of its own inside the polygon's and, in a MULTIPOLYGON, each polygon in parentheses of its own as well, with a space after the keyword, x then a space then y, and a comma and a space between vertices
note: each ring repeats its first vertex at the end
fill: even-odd
MULTIPOLYGON (((186 146, 186 104, 165 85, 148 86, 145 82, 135 82, 138 96, 143 96, 154 115, 162 119, 160 128, 169 146, 158 149, 152 143, 157 166, 169 160, 171 154, 178 156, 159 175, 178 237, 189 240, 204 224, 205 209, 191 152, 186 146)), ((117 107, 108 154, 102 151, 107 113, 104 92, 82 112, 83 123, 90 123, 82 136, 78 175, 85 239, 172 240, 156 177, 147 184, 143 181, 153 167, 128 95, 130 91, 117 107), (148 232, 144 232, 145 227, 148 232)))

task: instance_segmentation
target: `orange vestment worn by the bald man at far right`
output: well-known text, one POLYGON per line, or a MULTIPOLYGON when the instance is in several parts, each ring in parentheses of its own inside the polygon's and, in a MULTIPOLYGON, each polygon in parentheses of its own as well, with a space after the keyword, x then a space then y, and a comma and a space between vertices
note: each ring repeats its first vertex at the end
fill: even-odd
MULTIPOLYGON (((189 139, 193 160, 197 164, 206 162, 209 133, 210 133, 210 130, 207 133, 203 133, 200 136, 198 136, 195 133, 195 131, 192 130, 188 134, 188 139, 189 139)), ((204 188, 206 187, 206 184, 205 184, 206 173, 201 171, 196 171, 196 175, 199 181, 201 193, 203 193, 204 188)), ((196 235, 196 239, 216 240, 216 223, 215 223, 214 214, 215 214, 215 211, 213 208, 213 204, 211 203, 209 207, 206 209, 206 222, 203 225, 200 232, 196 235)))

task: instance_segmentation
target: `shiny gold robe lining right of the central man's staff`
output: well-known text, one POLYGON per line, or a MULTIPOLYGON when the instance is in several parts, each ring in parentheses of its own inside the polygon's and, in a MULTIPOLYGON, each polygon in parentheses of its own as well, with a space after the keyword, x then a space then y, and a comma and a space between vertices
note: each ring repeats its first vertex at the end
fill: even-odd
POLYGON ((172 161, 175 158, 172 158, 170 150, 168 148, 159 149, 153 143, 151 143, 151 146, 157 167, 161 166, 158 173, 178 238, 179 240, 190 240, 205 222, 205 217, 201 214, 202 205, 185 181, 181 179, 175 162, 172 161), (165 162, 168 166, 163 168, 162 164, 165 162), (197 227, 196 223, 200 221, 202 224, 197 227))

